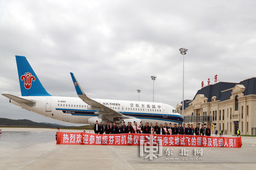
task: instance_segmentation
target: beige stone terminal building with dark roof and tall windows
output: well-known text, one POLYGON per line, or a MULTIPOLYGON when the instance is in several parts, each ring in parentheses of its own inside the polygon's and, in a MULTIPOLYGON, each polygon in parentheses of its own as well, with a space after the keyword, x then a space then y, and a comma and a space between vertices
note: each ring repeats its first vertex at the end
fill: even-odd
MULTIPOLYGON (((182 115, 182 102, 176 110, 182 115)), ((256 134, 256 77, 239 83, 218 82, 207 85, 195 94, 194 99, 184 100, 184 123, 209 125, 212 133, 256 134)))

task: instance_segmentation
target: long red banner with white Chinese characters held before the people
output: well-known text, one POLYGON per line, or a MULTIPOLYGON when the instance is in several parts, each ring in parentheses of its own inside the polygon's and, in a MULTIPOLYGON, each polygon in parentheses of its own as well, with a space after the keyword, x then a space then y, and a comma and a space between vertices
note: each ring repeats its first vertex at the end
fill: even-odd
POLYGON ((140 145, 156 136, 163 146, 185 147, 241 147, 241 137, 216 137, 196 135, 151 135, 139 133, 95 134, 84 132, 57 132, 56 144, 93 144, 93 145, 140 145))

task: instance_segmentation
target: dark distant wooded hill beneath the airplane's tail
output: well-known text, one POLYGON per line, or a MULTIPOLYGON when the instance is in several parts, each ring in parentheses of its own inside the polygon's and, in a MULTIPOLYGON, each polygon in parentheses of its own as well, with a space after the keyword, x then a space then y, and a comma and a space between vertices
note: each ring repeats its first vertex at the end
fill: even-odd
POLYGON ((13 119, 6 119, 0 118, 0 125, 16 125, 16 126, 44 126, 44 127, 63 127, 64 125, 58 124, 51 124, 51 123, 38 123, 33 122, 28 119, 20 119, 20 120, 13 120, 13 119))

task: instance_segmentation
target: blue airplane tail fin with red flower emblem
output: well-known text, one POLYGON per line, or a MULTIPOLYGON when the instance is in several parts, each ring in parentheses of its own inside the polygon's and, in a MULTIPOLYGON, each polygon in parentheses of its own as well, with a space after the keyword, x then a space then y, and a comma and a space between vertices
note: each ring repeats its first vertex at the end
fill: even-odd
POLYGON ((35 75, 24 56, 15 56, 20 80, 21 96, 51 96, 35 75))

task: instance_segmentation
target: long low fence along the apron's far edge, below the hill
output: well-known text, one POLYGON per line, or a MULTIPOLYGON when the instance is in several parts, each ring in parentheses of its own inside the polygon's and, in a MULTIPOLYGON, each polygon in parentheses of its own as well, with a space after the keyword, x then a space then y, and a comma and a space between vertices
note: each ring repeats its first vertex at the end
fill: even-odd
POLYGON ((76 127, 76 126, 20 126, 20 125, 0 125, 0 127, 23 127, 23 128, 47 128, 47 129, 75 129, 75 130, 93 130, 93 127, 76 127))

